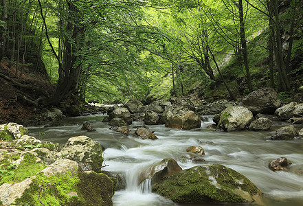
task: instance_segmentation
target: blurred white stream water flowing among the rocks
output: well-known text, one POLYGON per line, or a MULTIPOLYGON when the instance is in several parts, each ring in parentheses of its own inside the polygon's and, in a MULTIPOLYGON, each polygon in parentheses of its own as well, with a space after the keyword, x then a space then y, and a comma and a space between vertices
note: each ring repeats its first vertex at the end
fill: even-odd
MULTIPOLYGON (((148 165, 165 158, 175 159, 181 168, 187 169, 199 164, 222 164, 247 176, 265 196, 265 205, 303 205, 303 174, 293 172, 273 172, 268 164, 272 159, 287 157, 292 168, 303 168, 303 139, 292 141, 271 141, 268 138, 286 123, 274 122, 266 132, 216 132, 211 125, 212 118, 205 117, 201 128, 177 130, 164 125, 149 126, 155 130, 157 140, 143 140, 125 137, 109 130, 102 122, 104 115, 73 117, 63 120, 71 126, 29 127, 30 135, 43 140, 65 144, 69 137, 87 135, 105 148, 104 170, 122 172, 126 176, 126 190, 115 192, 114 205, 214 205, 214 204, 175 204, 151 192, 150 180, 138 185, 138 174, 148 165), (91 122, 94 132, 81 130, 84 122, 91 122), (205 150, 203 163, 192 163, 186 148, 200 145, 205 150)), ((133 122, 133 126, 143 125, 133 122)), ((299 128, 299 127, 298 127, 299 128)), ((134 128, 132 129, 135 130, 134 128)), ((236 205, 236 204, 225 204, 236 205)))

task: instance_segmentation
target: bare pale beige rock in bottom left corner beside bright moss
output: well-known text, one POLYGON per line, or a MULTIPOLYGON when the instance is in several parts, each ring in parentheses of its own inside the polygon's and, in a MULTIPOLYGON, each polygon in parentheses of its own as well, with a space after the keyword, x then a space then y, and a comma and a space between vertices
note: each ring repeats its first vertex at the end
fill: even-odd
POLYGON ((21 183, 4 183, 0 185, 1 205, 15 205, 17 198, 21 198, 25 190, 30 189, 30 185, 36 176, 25 179, 21 183))

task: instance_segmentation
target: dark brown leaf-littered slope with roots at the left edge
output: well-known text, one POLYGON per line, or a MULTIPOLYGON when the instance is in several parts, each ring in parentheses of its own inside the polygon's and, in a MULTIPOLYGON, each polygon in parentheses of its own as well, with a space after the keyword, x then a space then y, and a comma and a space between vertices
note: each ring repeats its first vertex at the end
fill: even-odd
POLYGON ((26 97, 29 100, 36 100, 37 93, 31 91, 32 88, 40 88, 49 95, 54 93, 56 87, 49 84, 38 73, 28 73, 27 69, 22 77, 15 75, 15 66, 8 67, 8 62, 0 64, 0 124, 16 122, 22 124, 31 119, 34 120, 43 109, 37 109, 36 106, 28 104, 20 97, 26 97), (8 77, 10 80, 8 80, 8 77), (21 87, 21 85, 26 86, 21 87))

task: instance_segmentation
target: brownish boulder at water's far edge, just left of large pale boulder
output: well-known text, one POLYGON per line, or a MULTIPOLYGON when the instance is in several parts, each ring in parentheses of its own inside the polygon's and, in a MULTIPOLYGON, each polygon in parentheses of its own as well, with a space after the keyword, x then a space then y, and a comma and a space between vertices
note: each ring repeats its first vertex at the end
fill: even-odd
POLYGON ((170 128, 190 130, 192 128, 201 127, 201 118, 193 111, 185 111, 175 115, 171 113, 166 119, 165 126, 170 128))

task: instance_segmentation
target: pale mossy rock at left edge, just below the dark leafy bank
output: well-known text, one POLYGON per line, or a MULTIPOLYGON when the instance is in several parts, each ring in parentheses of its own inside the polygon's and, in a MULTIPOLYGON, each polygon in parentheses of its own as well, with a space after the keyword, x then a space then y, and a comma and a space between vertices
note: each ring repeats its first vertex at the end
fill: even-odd
POLYGON ((23 135, 27 134, 28 130, 23 125, 19 125, 13 122, 10 122, 8 124, 0 124, 0 139, 19 139, 23 135))

